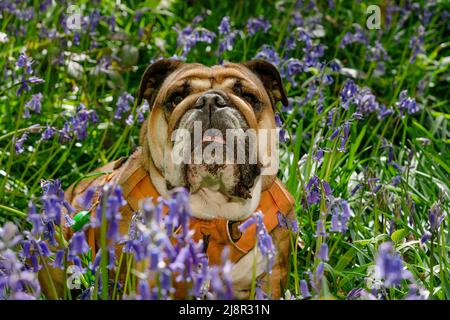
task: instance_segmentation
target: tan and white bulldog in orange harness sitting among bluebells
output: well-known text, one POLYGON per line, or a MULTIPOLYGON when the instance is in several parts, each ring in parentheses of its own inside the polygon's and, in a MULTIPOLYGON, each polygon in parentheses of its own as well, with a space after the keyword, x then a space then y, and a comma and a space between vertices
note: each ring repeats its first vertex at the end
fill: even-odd
MULTIPOLYGON (((288 103, 277 69, 262 60, 207 67, 163 59, 146 69, 137 98, 138 104, 145 99, 150 106, 140 147, 127 159, 96 170, 109 174, 72 185, 66 200, 81 210, 78 200, 88 188, 119 184, 127 201, 120 209, 119 225, 125 236, 140 200, 168 197, 172 189, 185 187, 190 193, 194 238, 204 241, 209 263, 221 263, 222 251, 230 250, 235 297, 249 297, 256 262, 264 290, 271 298, 280 298, 289 273, 290 239, 279 215, 295 219, 295 214, 293 197, 276 178, 274 110, 278 102, 288 103), (242 134, 244 139, 230 147, 228 142, 242 134), (239 154, 244 158, 238 159, 239 154), (255 248, 255 226, 243 232, 238 227, 257 210, 264 214, 276 248, 269 274, 265 274, 266 257, 255 248)), ((89 229, 94 253, 98 239, 89 229)), ((43 290, 51 296, 45 286, 43 290)))

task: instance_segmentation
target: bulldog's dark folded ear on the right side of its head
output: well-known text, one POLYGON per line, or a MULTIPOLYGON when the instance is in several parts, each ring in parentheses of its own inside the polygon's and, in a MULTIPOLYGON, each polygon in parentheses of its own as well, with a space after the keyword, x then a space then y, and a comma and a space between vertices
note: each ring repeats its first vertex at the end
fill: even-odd
POLYGON ((250 69, 261 80, 272 100, 274 108, 278 101, 281 101, 284 106, 288 105, 286 90, 281 81, 280 73, 273 64, 265 60, 252 60, 244 62, 243 65, 250 69))

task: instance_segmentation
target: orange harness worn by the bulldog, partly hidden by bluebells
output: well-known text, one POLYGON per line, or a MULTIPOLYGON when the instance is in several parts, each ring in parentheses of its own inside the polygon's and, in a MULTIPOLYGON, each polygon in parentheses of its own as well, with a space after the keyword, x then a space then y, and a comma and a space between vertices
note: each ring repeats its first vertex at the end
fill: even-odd
MULTIPOLYGON (((156 202, 160 196, 158 191, 150 181, 147 171, 138 166, 135 170, 127 175, 125 179, 115 179, 120 170, 114 170, 106 176, 105 182, 118 182, 122 188, 123 196, 128 206, 122 207, 120 210, 127 211, 128 216, 139 210, 139 201, 152 197, 156 202), (128 208, 127 208, 128 207, 128 208)), ((279 179, 276 179, 267 190, 261 194, 261 200, 257 211, 260 210, 264 217, 263 222, 270 233, 278 226, 278 213, 286 216, 294 205, 292 195, 286 190, 279 179)), ((92 212, 94 212, 93 210, 92 212)), ((242 221, 241 221, 242 222, 242 221)), ((230 249, 230 260, 234 263, 246 255, 256 243, 256 225, 253 224, 243 231, 237 241, 233 241, 229 228, 229 221, 223 218, 212 220, 191 218, 189 228, 194 230, 193 238, 196 241, 207 240, 206 254, 211 264, 220 264, 223 249, 228 246, 230 249)), ((88 243, 95 255, 96 235, 93 228, 88 230, 88 243)))

